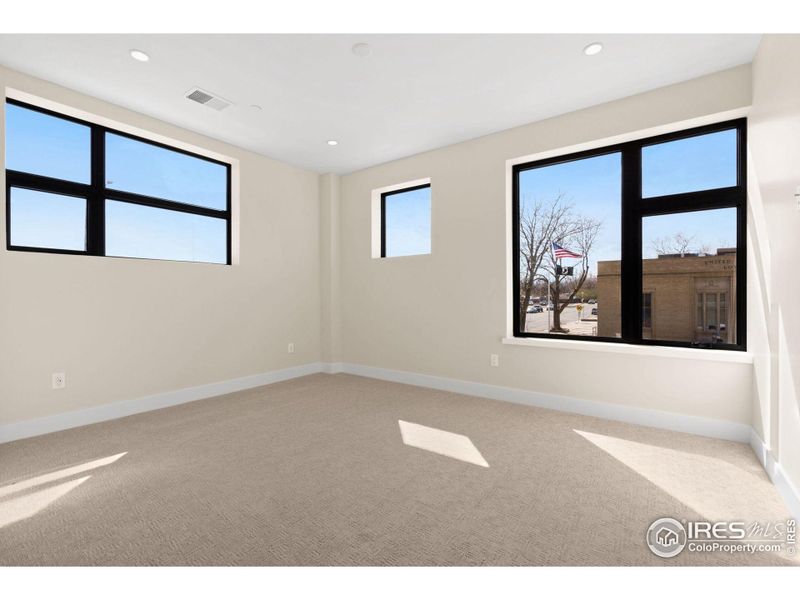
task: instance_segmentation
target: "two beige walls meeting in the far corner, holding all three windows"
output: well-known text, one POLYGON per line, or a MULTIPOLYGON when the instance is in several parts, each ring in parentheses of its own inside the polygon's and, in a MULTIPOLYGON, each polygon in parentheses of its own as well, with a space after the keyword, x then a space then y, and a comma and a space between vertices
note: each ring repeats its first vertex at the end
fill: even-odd
POLYGON ((749 66, 342 177, 0 69, 5 86, 238 160, 242 229, 233 267, 0 250, 0 424, 319 360, 751 421, 748 364, 501 343, 506 161, 741 109, 749 66), (372 259, 372 190, 426 177, 433 253, 372 259))

